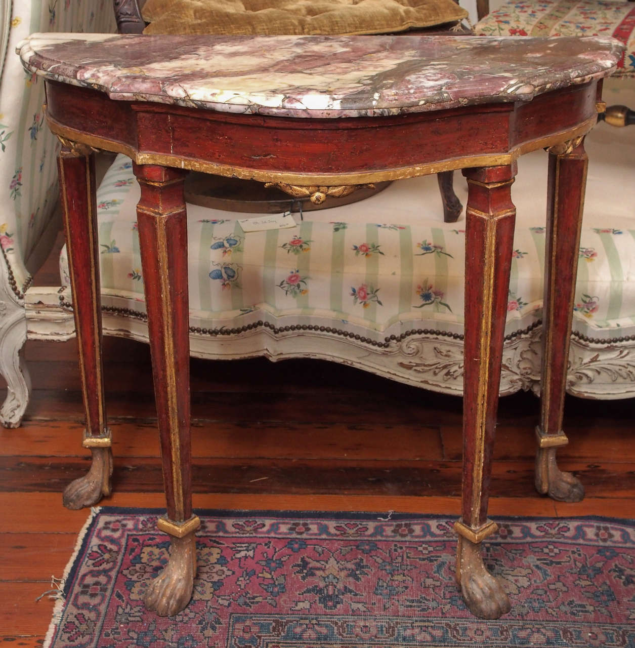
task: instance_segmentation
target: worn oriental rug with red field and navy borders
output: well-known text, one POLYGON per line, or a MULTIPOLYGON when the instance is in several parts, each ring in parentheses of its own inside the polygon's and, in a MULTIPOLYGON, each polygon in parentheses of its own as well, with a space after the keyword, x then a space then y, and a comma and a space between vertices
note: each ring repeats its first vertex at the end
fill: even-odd
POLYGON ((485 542, 512 601, 475 619, 454 583, 454 519, 199 511, 190 605, 143 594, 168 558, 161 511, 103 508, 65 574, 47 648, 635 646, 635 522, 497 518, 485 542))

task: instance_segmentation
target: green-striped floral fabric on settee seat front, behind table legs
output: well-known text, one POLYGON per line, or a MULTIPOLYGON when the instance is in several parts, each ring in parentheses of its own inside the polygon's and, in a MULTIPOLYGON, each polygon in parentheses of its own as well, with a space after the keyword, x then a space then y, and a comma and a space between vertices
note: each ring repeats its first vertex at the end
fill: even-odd
MULTIPOLYGON (((248 234, 237 214, 189 205, 192 325, 345 321, 372 340, 413 327, 463 332, 465 222, 445 224, 434 209, 422 216, 425 182, 435 180, 393 183, 357 205, 297 217, 293 229, 248 234)), ((119 156, 98 191, 102 294, 106 305, 143 312, 138 199, 132 164, 119 156)), ((544 241, 544 207, 519 209, 508 333, 540 318, 544 241)), ((574 329, 592 338, 635 332, 635 229, 591 219, 579 255, 574 329)), ((69 284, 65 253, 60 270, 69 284)))

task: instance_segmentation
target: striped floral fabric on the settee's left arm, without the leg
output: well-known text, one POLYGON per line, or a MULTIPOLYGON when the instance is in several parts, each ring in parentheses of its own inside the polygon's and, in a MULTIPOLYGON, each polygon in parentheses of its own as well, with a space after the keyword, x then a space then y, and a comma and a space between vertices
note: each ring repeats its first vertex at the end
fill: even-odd
MULTIPOLYGON (((33 32, 113 32, 111 0, 14 0, 0 87, 0 244, 17 285, 58 199, 56 139, 44 124, 44 87, 27 75, 17 43, 33 32)), ((34 270, 33 268, 31 268, 34 270)))

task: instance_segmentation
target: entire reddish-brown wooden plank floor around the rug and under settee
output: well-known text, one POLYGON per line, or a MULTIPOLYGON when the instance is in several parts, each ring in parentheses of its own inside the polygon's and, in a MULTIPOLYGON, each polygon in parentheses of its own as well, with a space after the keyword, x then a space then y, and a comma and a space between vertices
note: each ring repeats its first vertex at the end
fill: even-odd
MULTIPOLYGON (((36 283, 54 283, 55 260, 36 283)), ((0 642, 41 645, 86 511, 62 507, 87 469, 76 345, 29 342, 33 395, 23 426, 0 432, 0 642)), ((106 340, 114 494, 105 504, 161 507, 148 348, 106 340)), ((461 399, 319 361, 192 360, 194 505, 459 513, 461 399)), ((2 395, 4 397, 4 395, 2 395)), ((533 489, 538 401, 502 399, 491 515, 630 517, 635 402, 568 399, 571 443, 560 465, 586 499, 555 503, 533 489)))

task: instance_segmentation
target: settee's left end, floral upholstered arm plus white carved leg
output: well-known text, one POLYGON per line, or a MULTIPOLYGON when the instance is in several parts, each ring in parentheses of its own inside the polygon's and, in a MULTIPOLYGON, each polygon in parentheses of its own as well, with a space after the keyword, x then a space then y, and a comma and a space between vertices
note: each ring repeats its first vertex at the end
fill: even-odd
POLYGON ((56 139, 44 123, 44 84, 25 74, 14 51, 33 32, 112 32, 115 21, 107 0, 1 0, 0 15, 0 373, 8 385, 0 422, 14 427, 29 398, 19 358, 27 334, 24 292, 60 227, 56 139))

